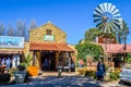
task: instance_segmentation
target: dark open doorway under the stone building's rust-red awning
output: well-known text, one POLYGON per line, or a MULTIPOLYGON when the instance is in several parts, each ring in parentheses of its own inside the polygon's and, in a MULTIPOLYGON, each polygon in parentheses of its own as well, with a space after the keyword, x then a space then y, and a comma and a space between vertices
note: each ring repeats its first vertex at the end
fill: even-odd
POLYGON ((56 52, 55 51, 41 52, 41 70, 43 71, 56 70, 56 52))

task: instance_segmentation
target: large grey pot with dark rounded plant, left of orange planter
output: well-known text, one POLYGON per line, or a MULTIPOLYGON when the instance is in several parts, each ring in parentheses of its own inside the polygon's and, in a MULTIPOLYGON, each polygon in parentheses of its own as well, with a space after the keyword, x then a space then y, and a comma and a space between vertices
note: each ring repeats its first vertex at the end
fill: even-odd
POLYGON ((27 71, 23 64, 17 65, 17 70, 13 72, 15 77, 15 83, 17 84, 24 83, 26 73, 27 71))

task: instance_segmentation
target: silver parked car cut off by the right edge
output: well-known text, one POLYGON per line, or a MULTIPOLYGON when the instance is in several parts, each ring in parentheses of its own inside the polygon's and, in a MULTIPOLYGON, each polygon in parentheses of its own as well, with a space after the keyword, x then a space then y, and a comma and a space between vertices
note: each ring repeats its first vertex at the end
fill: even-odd
POLYGON ((131 84, 131 63, 126 63, 121 67, 120 82, 131 84))

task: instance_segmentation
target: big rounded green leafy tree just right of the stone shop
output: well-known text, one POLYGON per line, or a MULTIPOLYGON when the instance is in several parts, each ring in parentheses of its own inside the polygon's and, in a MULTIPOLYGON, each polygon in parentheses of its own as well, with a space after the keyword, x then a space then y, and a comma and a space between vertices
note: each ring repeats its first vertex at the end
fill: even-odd
POLYGON ((100 46, 95 44, 80 44, 75 46, 78 50, 78 58, 86 61, 86 55, 93 55, 95 61, 98 61, 99 55, 103 55, 104 50, 100 46))

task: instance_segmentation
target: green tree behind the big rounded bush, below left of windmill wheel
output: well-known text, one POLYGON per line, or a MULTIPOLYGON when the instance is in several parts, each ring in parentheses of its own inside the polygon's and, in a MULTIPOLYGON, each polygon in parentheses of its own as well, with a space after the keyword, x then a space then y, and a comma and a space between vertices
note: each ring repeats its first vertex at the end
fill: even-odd
POLYGON ((90 28, 85 32, 85 41, 96 41, 96 37, 100 34, 100 32, 96 28, 90 28))

